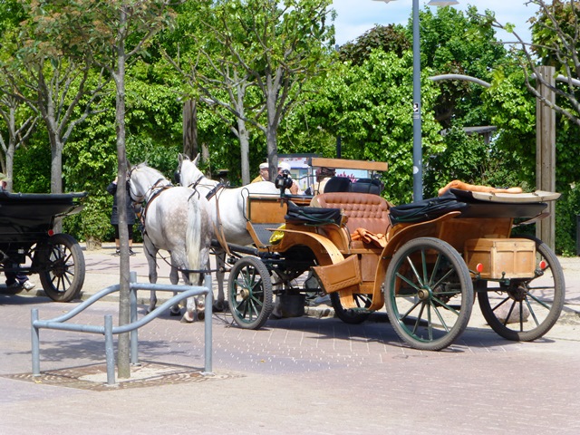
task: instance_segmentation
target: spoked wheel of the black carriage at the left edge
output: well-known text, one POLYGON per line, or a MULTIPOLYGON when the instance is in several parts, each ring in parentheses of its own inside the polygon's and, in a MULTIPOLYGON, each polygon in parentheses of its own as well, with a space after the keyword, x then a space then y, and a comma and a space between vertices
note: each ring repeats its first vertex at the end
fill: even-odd
POLYGON ((74 237, 55 234, 36 251, 40 282, 44 293, 56 302, 69 302, 79 295, 84 284, 84 256, 74 237))

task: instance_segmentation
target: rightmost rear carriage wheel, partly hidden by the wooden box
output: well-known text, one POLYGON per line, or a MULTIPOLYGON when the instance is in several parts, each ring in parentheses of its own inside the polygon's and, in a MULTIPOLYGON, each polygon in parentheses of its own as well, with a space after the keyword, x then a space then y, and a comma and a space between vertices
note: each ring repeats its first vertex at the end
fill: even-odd
POLYGON ((507 340, 529 342, 547 333, 564 306, 562 266, 554 252, 536 237, 536 270, 530 279, 512 279, 509 284, 488 288, 478 282, 481 314, 498 335, 507 340))

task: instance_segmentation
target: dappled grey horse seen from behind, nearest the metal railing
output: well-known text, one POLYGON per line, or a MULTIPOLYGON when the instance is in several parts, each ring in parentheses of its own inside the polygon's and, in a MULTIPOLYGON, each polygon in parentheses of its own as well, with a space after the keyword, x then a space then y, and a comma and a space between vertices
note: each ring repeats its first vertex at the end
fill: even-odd
MULTIPOLYGON (((181 271, 186 285, 202 285, 203 273, 200 271, 208 265, 212 235, 206 199, 199 198, 192 189, 172 187, 159 170, 145 163, 132 167, 129 174, 131 199, 146 202, 143 209, 143 250, 149 264, 150 283, 157 282, 157 253, 163 249, 170 255, 171 284, 178 284, 181 271)), ((155 304, 157 296, 155 291, 151 291, 149 311, 155 308, 155 304)), ((203 305, 197 298, 188 299, 183 320, 196 320, 198 313, 203 312, 203 305)), ((179 305, 171 307, 171 314, 179 315, 179 305)))

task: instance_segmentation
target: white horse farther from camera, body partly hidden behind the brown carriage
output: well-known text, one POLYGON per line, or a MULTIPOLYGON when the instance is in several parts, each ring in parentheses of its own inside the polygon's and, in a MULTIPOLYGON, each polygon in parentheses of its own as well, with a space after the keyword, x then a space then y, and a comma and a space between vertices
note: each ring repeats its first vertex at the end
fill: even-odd
MULTIPOLYGON (((275 188, 270 181, 251 183, 241 188, 226 188, 218 181, 208 179, 198 169, 197 156, 189 160, 185 154, 179 154, 179 182, 182 186, 188 186, 199 192, 208 199, 209 213, 214 222, 215 230, 227 243, 247 246, 254 242, 247 231, 246 200, 249 195, 280 195, 280 190, 275 188)), ((218 299, 215 304, 217 311, 225 308, 224 297, 224 266, 226 265, 226 252, 221 248, 215 249, 218 263, 218 299)))

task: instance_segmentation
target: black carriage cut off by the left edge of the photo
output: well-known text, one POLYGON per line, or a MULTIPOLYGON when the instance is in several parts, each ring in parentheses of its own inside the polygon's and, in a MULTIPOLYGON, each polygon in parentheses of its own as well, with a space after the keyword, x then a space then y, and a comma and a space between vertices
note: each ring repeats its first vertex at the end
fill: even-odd
POLYGON ((54 234, 53 227, 55 219, 80 211, 85 196, 0 192, 0 272, 38 274, 51 299, 73 300, 84 283, 82 248, 74 237, 54 234))

